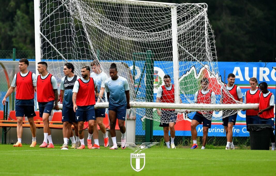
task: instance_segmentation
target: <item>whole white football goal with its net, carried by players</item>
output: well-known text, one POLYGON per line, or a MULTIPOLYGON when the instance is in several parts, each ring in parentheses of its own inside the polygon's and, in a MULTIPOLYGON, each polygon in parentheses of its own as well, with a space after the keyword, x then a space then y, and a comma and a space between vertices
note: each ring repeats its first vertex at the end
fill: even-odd
MULTIPOLYGON (((258 108, 258 104, 234 100, 222 83, 205 3, 34 2, 36 62, 46 61, 58 83, 64 63, 73 63, 80 75, 81 66, 97 59, 107 75, 110 63, 118 65, 118 74, 129 81, 131 110, 141 117, 160 121, 154 110, 164 108, 200 111, 209 119, 219 119, 240 109, 258 108), (174 84, 174 103, 155 102, 164 75, 174 84), (194 94, 201 89, 202 78, 208 78, 208 87, 216 94, 215 104, 195 104, 194 94), (221 97, 222 90, 227 96, 221 97), (213 113, 205 113, 210 111, 213 113)), ((96 107, 108 107, 108 102, 96 107)))

